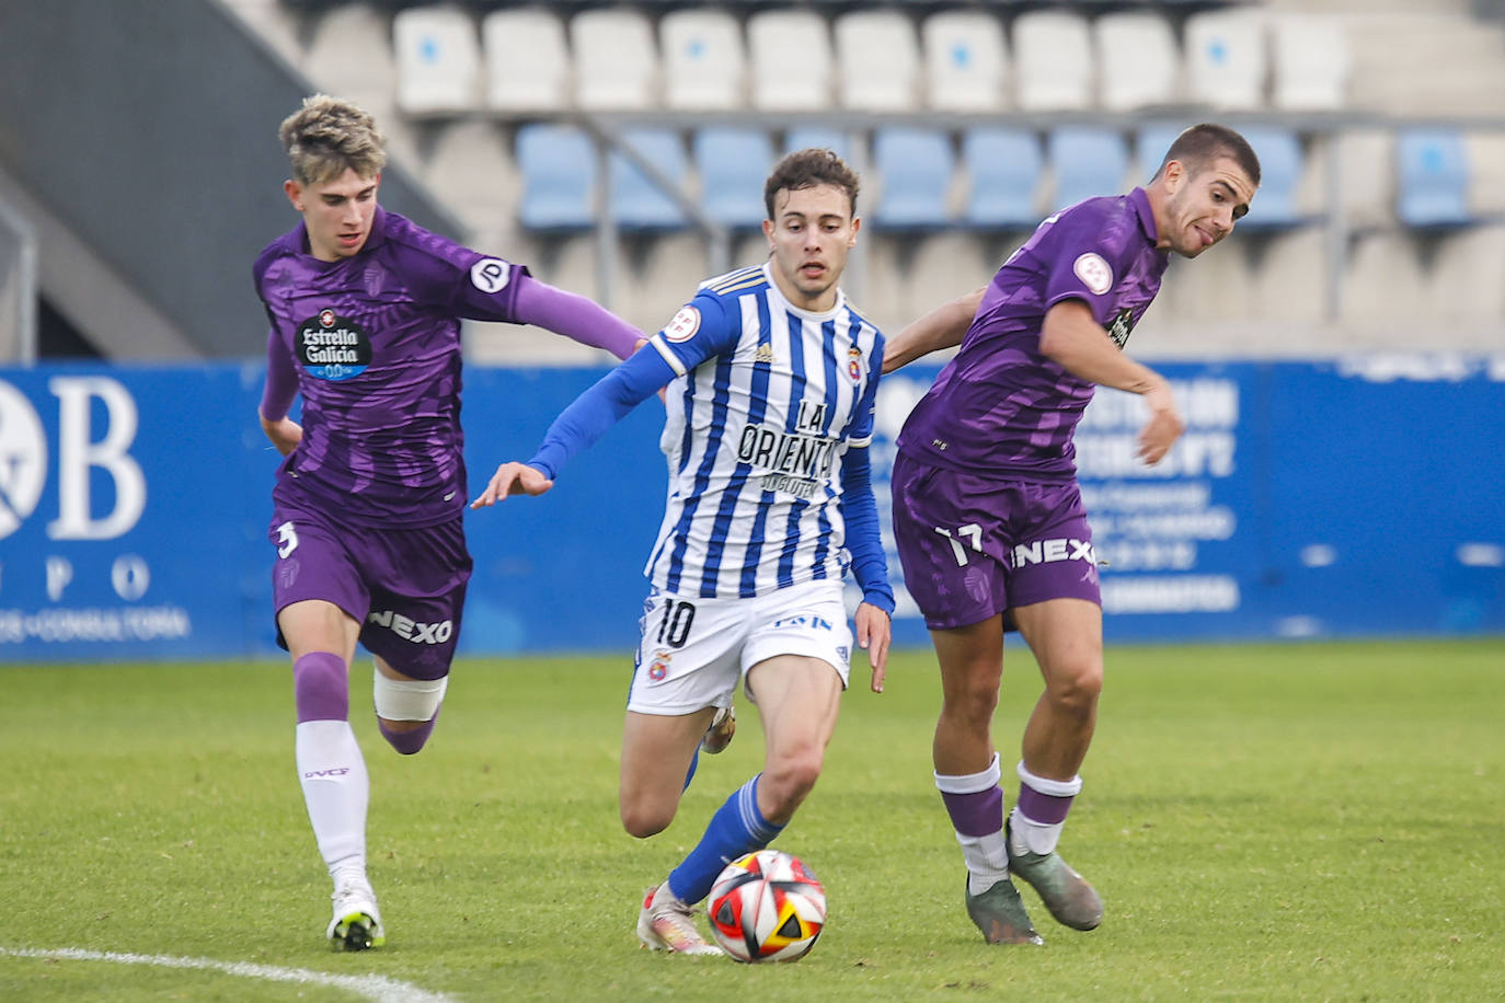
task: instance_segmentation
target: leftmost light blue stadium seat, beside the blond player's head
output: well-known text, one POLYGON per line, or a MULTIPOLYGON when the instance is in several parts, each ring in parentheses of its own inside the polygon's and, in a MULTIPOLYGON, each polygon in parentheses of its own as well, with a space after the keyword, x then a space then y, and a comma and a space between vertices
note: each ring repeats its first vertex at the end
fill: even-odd
POLYGON ((584 230, 596 224, 596 147, 570 125, 518 128, 522 198, 518 220, 530 230, 584 230))

